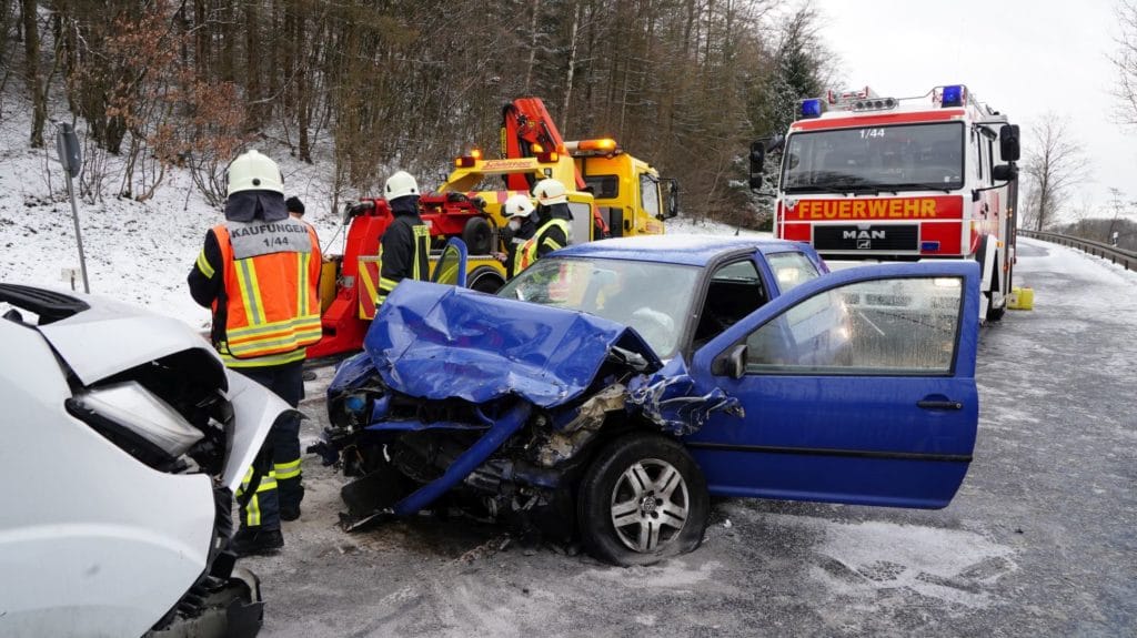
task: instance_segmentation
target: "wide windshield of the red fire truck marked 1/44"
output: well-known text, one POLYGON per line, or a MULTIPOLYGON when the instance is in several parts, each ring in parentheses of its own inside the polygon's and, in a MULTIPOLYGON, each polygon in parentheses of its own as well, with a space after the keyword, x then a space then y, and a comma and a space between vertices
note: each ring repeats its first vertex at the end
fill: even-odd
POLYGON ((805 131, 786 144, 786 193, 963 187, 963 123, 805 131))

